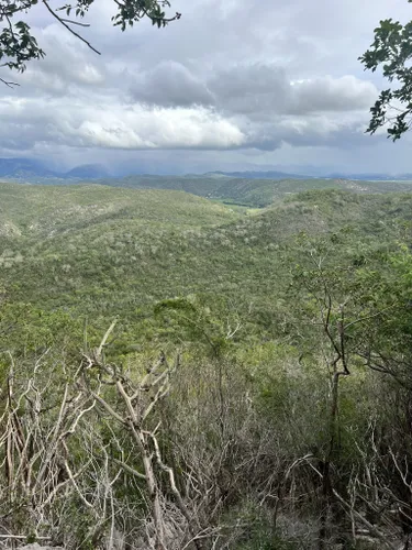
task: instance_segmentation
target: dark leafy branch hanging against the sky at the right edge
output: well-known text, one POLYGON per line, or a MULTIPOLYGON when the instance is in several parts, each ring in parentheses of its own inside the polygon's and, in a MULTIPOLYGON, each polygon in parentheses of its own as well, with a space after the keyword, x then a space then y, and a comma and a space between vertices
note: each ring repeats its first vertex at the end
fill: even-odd
MULTIPOLYGON (((412 0, 408 0, 412 2, 412 0)), ((375 29, 375 41, 359 61, 365 70, 375 73, 382 66, 391 87, 382 90, 370 108, 371 119, 366 130, 374 134, 389 124, 388 138, 397 141, 412 125, 412 21, 402 25, 387 19, 375 29)))

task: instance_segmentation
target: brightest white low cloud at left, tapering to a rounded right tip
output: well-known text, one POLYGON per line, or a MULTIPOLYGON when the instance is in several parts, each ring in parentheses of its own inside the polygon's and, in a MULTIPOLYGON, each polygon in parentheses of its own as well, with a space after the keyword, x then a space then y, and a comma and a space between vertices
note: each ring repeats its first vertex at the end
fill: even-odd
POLYGON ((125 150, 219 150, 241 146, 245 140, 235 124, 207 109, 115 106, 105 98, 90 103, 85 96, 76 102, 55 98, 47 105, 9 97, 0 101, 0 146, 4 148, 15 148, 10 135, 24 136, 20 139, 24 148, 48 142, 125 150))

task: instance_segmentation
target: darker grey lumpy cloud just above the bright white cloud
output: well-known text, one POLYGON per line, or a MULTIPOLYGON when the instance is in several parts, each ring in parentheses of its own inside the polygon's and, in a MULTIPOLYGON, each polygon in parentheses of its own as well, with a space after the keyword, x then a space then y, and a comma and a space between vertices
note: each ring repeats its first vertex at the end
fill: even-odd
POLYGON ((136 102, 160 107, 214 107, 229 114, 308 114, 367 109, 376 86, 353 75, 292 80, 285 67, 238 64, 201 77, 182 64, 165 61, 141 72, 131 86, 136 102))

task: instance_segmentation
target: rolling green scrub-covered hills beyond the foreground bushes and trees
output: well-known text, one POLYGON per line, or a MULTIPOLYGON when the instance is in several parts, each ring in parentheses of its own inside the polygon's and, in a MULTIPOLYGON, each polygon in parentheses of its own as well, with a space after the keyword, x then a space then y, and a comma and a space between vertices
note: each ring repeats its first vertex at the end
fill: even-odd
POLYGON ((176 190, 2 184, 2 300, 74 322, 88 316, 96 327, 119 315, 135 341, 162 338, 151 324, 159 300, 197 296, 219 316, 249 318, 252 308, 250 336, 272 338, 299 235, 344 231, 352 249, 387 250, 412 218, 412 194, 307 187, 286 196, 279 187, 270 207, 237 210, 176 190))

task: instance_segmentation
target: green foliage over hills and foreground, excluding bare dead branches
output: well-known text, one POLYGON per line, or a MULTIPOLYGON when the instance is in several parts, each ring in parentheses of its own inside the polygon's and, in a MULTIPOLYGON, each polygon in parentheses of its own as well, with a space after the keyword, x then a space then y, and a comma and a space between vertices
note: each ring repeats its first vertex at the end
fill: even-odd
MULTIPOLYGON (((350 510, 383 510, 380 530, 396 524, 387 492, 393 502, 408 497, 391 453, 412 457, 412 194, 315 189, 311 180, 281 198, 282 185, 270 207, 253 212, 181 190, 0 185, 0 395, 11 365, 19 395, 44 356, 30 391, 46 389, 42 411, 53 428, 79 356, 115 316, 104 356, 119 380, 141 380, 160 350, 178 349, 153 426, 221 548, 319 548, 308 525, 324 506, 326 460, 350 510), (331 359, 342 334, 350 375, 339 382, 332 432, 331 359), (360 496, 350 501, 354 487, 360 496)), ((88 387, 104 383, 99 370, 87 372, 88 387)), ((103 395, 118 410, 115 387, 103 395)), ((31 426, 24 403, 15 415, 31 426)), ((125 427, 94 414, 70 439, 73 469, 86 468, 88 450, 96 464, 110 457, 141 470, 125 427)), ((96 490, 96 472, 79 475, 85 494, 96 490)), ((113 495, 135 537, 147 514, 144 482, 122 472, 113 495)), ((62 535, 67 548, 101 543, 110 521, 96 521, 77 497, 54 506, 70 530, 62 535)), ((336 537, 352 540, 347 508, 334 506, 336 537)), ((32 521, 21 510, 12 518, 19 532, 32 521)))

